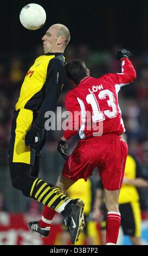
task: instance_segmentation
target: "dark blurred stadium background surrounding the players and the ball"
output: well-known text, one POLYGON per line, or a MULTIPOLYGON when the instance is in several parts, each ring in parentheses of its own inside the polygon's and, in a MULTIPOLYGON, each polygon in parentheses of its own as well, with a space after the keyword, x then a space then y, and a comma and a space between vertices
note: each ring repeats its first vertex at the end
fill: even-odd
MULTIPOLYGON (((12 106, 17 100, 23 77, 34 59, 43 53, 41 38, 54 23, 63 23, 71 34, 65 52, 66 60, 82 58, 91 70, 92 76, 98 77, 105 72, 120 71, 120 64, 115 59, 115 53, 119 48, 127 48, 133 53, 132 61, 137 70, 137 79, 131 86, 121 90, 119 103, 130 153, 139 158, 148 172, 148 2, 146 0, 33 2, 41 4, 47 13, 47 21, 38 31, 28 31, 22 27, 19 20, 20 10, 29 1, 0 1, 0 245, 43 243, 26 229, 26 222, 31 216, 34 219, 33 215, 40 215, 41 205, 25 198, 21 192, 11 186, 8 142, 12 106)), ((69 88, 71 89, 67 83, 62 91, 59 106, 63 107, 65 94, 69 88)), ((60 135, 61 131, 49 131, 48 143, 44 147, 42 156, 40 176, 53 183, 63 164, 61 156, 56 152, 60 135)), ((76 139, 70 140, 69 151, 74 147, 76 139)), ((143 240, 148 244, 147 188, 140 190, 140 195, 143 210, 143 240)), ((56 216, 55 222, 60 221, 59 216, 56 216)), ((55 223, 55 227, 60 230, 59 224, 55 223)), ((51 244, 50 242, 46 240, 45 243, 51 244)), ((123 243, 128 244, 128 241, 124 240, 123 243)))

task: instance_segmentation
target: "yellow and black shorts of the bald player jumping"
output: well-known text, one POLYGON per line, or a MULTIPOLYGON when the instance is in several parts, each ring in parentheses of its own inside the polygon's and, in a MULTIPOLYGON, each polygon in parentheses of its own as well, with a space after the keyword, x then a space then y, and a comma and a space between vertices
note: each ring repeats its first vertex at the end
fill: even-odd
POLYGON ((36 116, 37 113, 34 113, 30 109, 22 108, 15 112, 14 119, 12 120, 9 143, 9 162, 34 165, 36 147, 26 147, 24 138, 36 116))

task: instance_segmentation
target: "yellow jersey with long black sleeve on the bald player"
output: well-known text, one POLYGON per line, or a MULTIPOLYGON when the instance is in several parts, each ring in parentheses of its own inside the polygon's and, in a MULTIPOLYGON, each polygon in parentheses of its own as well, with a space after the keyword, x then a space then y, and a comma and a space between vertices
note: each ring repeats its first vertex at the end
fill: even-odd
POLYGON ((36 58, 23 81, 16 110, 26 108, 38 112, 33 126, 42 129, 47 111, 53 111, 65 83, 63 53, 47 53, 36 58))

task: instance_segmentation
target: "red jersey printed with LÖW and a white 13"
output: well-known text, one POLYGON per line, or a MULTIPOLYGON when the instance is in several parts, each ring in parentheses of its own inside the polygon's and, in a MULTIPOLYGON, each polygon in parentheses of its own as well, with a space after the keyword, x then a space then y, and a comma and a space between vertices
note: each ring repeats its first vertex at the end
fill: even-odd
POLYGON ((124 123, 118 105, 120 88, 136 78, 128 58, 121 60, 122 72, 99 78, 86 77, 66 95, 65 106, 70 111, 66 139, 79 132, 81 139, 115 133, 121 135, 124 123), (79 114, 78 114, 79 113, 79 114))

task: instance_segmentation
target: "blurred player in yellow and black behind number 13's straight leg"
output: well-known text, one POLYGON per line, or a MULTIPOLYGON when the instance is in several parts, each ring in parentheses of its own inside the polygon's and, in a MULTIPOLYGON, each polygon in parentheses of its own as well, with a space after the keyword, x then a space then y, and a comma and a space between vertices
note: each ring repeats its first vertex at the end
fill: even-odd
MULTIPOLYGON (((121 227, 124 235, 130 236, 132 245, 142 245, 141 242, 141 210, 137 187, 148 186, 147 173, 140 162, 131 155, 127 155, 123 185, 119 195, 119 211, 121 214, 121 227)), ((106 209, 102 199, 104 198, 104 186, 101 180, 96 189, 94 216, 99 221, 104 211, 104 218, 100 222, 102 244, 105 245, 106 236, 106 209)))

